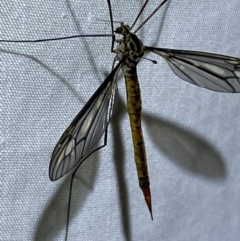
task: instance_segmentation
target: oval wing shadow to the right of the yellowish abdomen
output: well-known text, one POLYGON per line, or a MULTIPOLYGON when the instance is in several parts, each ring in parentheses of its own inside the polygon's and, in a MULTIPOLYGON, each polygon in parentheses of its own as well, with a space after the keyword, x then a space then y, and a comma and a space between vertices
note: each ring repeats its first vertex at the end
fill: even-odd
POLYGON ((218 150, 207 140, 176 123, 143 112, 156 148, 183 169, 209 179, 224 179, 227 171, 218 150))

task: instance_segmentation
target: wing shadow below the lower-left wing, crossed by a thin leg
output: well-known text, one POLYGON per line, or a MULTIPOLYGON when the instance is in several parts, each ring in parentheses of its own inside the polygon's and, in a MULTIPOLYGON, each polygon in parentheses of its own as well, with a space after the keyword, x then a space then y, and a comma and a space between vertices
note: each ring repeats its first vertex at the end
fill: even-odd
MULTIPOLYGON (((79 213, 89 193, 93 189, 99 166, 98 160, 98 154, 94 153, 87 162, 82 164, 82 168, 75 176, 73 186, 75 190, 77 188, 77 191, 72 193, 71 218, 79 213)), ((63 180, 42 212, 38 220, 34 241, 53 240, 60 232, 65 235, 70 181, 71 176, 63 180)))

